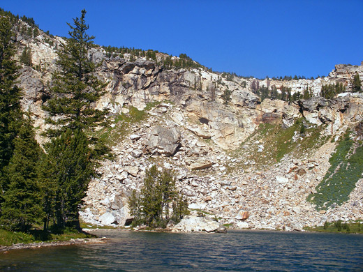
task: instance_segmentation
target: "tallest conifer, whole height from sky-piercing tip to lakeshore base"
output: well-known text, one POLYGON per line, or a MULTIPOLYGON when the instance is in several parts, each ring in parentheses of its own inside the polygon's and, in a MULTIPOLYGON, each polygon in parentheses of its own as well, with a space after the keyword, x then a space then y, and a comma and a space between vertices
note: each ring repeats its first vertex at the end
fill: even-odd
POLYGON ((89 136, 104 124, 108 111, 94 109, 94 103, 105 93, 105 84, 94 75, 96 65, 88 56, 94 37, 87 34, 85 15, 82 10, 81 17, 75 18, 73 25, 68 24, 71 38, 58 52, 53 97, 44 107, 50 113, 46 121, 53 125, 47 130, 53 138, 45 158, 50 169, 42 173, 50 176, 46 181, 52 186, 44 188, 45 229, 51 218, 60 228, 80 227, 78 210, 89 181, 95 176, 97 160, 109 154, 100 139, 89 136))

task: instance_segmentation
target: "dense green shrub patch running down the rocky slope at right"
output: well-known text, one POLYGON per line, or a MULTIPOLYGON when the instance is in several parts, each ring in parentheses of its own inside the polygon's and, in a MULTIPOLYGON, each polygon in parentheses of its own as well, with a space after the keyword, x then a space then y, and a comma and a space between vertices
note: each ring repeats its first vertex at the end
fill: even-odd
POLYGON ((327 209, 346 202, 355 183, 362 178, 362 142, 354 142, 350 134, 347 132, 343 135, 335 153, 329 158, 331 166, 327 174, 316 187, 316 193, 308 197, 310 202, 316 204, 316 209, 327 209))

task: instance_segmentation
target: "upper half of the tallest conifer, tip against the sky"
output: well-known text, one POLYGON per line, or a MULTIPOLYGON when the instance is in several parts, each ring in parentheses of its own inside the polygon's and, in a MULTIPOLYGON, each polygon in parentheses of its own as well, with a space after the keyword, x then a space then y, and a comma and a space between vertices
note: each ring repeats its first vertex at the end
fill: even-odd
POLYGON ((60 135, 68 128, 71 130, 92 130, 105 121, 106 110, 94 109, 94 103, 105 93, 105 84, 98 80, 94 72, 96 64, 89 59, 88 50, 92 47, 94 36, 89 36, 86 31, 89 26, 84 17, 86 10, 82 10, 80 18, 73 19, 71 38, 64 45, 64 50, 59 50, 59 70, 54 73, 51 91, 54 97, 44 107, 52 117, 47 123, 57 126, 50 129, 50 136, 60 135))

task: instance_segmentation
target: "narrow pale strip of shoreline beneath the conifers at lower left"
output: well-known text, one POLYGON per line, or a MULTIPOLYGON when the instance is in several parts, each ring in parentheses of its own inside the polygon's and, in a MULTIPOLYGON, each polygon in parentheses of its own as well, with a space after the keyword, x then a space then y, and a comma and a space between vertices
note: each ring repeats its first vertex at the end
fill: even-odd
POLYGON ((10 250, 47 248, 51 246, 61 246, 61 245, 86 245, 93 243, 107 243, 107 241, 108 239, 106 237, 101 237, 101 238, 96 237, 96 238, 78 238, 78 239, 71 239, 68 241, 17 243, 15 245, 0 245, 0 253, 6 254, 10 250))

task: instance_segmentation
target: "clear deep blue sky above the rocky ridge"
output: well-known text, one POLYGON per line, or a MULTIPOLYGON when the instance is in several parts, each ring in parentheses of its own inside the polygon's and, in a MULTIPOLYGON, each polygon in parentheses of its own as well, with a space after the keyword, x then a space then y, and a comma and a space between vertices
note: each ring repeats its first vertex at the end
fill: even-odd
POLYGON ((213 70, 255 77, 327 75, 363 61, 363 0, 1 0, 40 29, 68 36, 87 10, 98 45, 185 53, 213 70))

